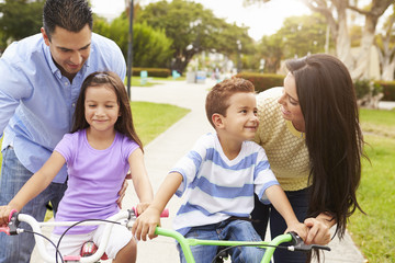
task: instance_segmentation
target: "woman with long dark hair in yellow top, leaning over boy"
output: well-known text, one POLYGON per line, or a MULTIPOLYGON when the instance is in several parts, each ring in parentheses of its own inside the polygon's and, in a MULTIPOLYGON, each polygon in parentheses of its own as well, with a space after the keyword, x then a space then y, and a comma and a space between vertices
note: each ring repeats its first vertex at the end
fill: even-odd
MULTIPOLYGON (((337 58, 316 54, 286 61, 284 88, 257 96, 261 145, 294 211, 309 227, 306 243, 326 244, 329 228, 342 238, 347 218, 358 208, 363 139, 352 80, 337 58), (306 219, 307 218, 307 219, 306 219)), ((256 201, 256 230, 272 237, 286 225, 275 209, 256 201)), ((278 250, 276 263, 306 262, 303 253, 278 250)))

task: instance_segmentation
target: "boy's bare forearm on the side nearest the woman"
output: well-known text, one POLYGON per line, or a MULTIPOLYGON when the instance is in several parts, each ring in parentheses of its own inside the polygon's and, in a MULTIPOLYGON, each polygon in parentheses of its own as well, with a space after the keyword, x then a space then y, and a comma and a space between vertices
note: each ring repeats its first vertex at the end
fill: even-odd
POLYGON ((266 195, 268 196, 274 208, 284 218, 287 226, 285 232, 295 231, 303 240, 305 240, 307 237, 307 227, 297 220, 295 213, 293 211, 290 204, 290 201, 287 199, 281 186, 270 186, 266 190, 266 195))

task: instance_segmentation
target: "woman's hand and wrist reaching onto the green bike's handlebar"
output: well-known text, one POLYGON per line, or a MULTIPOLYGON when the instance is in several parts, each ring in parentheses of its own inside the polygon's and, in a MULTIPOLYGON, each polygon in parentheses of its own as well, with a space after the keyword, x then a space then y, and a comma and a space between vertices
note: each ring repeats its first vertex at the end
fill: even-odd
POLYGON ((305 225, 308 227, 305 243, 328 244, 330 242, 330 228, 336 224, 329 213, 321 213, 316 218, 307 218, 305 225))

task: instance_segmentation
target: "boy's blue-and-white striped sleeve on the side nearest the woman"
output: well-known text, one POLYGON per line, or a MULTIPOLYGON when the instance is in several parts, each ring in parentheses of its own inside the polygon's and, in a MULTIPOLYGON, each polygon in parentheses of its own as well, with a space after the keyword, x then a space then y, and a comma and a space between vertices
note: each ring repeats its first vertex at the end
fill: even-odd
POLYGON ((270 169, 270 163, 263 148, 258 145, 257 147, 257 165, 253 174, 255 193, 258 195, 260 202, 263 204, 270 204, 270 201, 264 192, 270 186, 279 184, 279 181, 270 169))

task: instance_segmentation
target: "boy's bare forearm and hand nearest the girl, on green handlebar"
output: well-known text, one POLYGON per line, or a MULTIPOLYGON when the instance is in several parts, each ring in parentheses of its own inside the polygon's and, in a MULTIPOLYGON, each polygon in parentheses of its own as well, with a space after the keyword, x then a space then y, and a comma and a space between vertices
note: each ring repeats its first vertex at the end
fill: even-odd
POLYGON ((146 236, 150 239, 155 238, 155 229, 160 226, 160 213, 165 209, 171 196, 182 182, 182 175, 178 172, 169 173, 161 183, 153 203, 149 207, 136 219, 132 228, 132 233, 137 240, 146 241, 146 236))

